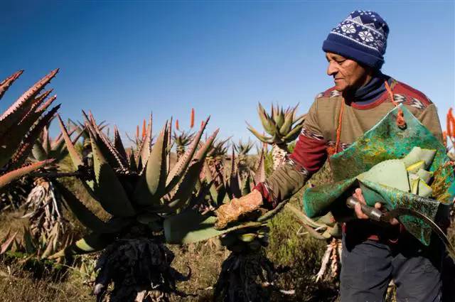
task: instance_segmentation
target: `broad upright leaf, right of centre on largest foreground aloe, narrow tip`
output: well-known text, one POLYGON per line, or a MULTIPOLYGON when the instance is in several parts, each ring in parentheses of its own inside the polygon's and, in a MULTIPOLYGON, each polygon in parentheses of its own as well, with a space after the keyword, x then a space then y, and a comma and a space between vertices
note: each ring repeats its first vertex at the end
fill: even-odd
POLYGON ((168 139, 168 124, 161 130, 158 139, 146 163, 146 171, 134 189, 134 196, 139 205, 159 205, 160 198, 166 188, 166 146, 168 139))

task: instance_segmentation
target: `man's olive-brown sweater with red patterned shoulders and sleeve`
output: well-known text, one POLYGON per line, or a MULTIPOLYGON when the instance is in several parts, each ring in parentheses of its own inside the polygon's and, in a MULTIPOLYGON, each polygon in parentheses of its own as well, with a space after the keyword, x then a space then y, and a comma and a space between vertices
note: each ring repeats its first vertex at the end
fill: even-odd
MULTIPOLYGON (((395 102, 405 104, 407 109, 442 141, 441 125, 434 104, 422 92, 390 77, 386 78, 395 102)), ((338 151, 348 148, 393 109, 395 105, 390 102, 387 91, 381 91, 382 93, 375 95, 373 102, 372 99, 366 102, 346 99, 338 151)), ((336 142, 342 99, 341 93, 333 88, 316 96, 289 160, 256 187, 270 207, 294 195, 325 163, 328 147, 334 146, 336 142)))

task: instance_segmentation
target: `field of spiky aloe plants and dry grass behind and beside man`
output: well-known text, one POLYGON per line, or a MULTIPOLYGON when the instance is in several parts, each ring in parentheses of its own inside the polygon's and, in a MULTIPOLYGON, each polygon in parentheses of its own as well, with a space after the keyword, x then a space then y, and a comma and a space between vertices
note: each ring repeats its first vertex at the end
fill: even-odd
MULTIPOLYGON (((208 134, 216 121, 195 124, 194 109, 188 129, 169 117, 155 130, 150 116, 125 141, 90 111, 65 121, 46 90, 57 73, 0 117, 2 301, 336 301, 339 228, 306 217, 301 193, 214 227, 220 205, 283 163, 298 107, 259 104, 264 129, 247 125, 258 141, 208 134)), ((21 74, 0 82, 0 98, 21 74)), ((444 135, 455 160, 451 111, 444 135)), ((304 189, 330 180, 325 166, 304 189)))

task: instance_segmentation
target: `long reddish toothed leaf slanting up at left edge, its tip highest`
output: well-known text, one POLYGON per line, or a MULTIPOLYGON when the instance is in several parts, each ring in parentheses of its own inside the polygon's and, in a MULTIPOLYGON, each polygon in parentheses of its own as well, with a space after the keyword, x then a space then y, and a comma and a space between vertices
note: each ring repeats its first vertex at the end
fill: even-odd
POLYGON ((30 87, 21 97, 19 97, 14 104, 9 107, 9 109, 6 110, 3 114, 0 116, 0 125, 1 129, 0 132, 1 134, 4 134, 9 127, 18 124, 19 121, 21 121, 21 118, 23 117, 24 114, 26 114, 27 109, 29 107, 27 106, 28 103, 33 100, 36 95, 44 88, 45 85, 47 85, 50 80, 55 77, 57 74, 58 69, 55 69, 51 71, 48 75, 45 75, 41 80, 35 83, 32 87, 30 87))

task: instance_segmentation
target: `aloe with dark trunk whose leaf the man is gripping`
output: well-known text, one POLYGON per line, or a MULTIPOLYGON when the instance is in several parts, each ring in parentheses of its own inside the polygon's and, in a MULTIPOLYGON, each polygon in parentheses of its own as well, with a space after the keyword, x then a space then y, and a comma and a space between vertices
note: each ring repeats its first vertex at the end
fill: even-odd
POLYGON ((278 271, 265 254, 265 247, 269 244, 267 221, 284 204, 269 212, 265 209, 253 212, 224 230, 215 229, 213 210, 223 203, 229 203, 232 198, 250 193, 255 184, 265 179, 263 152, 259 156, 255 175, 251 174, 250 178, 240 178, 235 155, 231 158, 231 166, 230 177, 222 185, 215 186, 214 175, 205 165, 205 178, 201 183, 206 187, 201 191, 205 193, 203 200, 209 202, 211 209, 201 212, 197 207, 167 217, 164 222, 166 240, 171 243, 192 243, 220 237, 221 244, 231 254, 223 262, 214 286, 215 301, 269 301, 272 291, 278 289, 274 286, 278 271))

